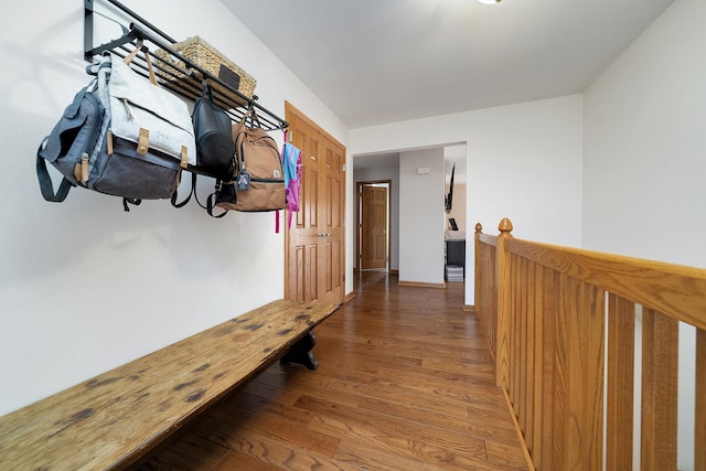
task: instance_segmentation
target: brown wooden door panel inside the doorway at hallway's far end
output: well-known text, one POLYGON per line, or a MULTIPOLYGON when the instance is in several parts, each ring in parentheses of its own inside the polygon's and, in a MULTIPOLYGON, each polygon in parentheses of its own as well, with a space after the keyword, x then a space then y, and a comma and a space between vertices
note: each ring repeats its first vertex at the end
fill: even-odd
POLYGON ((361 269, 387 268, 387 188, 362 185, 361 269))

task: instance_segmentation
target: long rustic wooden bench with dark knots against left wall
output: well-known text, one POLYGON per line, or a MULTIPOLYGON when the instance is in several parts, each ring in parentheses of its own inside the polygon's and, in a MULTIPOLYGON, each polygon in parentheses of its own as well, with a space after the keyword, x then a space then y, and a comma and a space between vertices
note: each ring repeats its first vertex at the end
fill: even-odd
POLYGON ((278 358, 315 370, 336 306, 274 301, 0 417, 0 469, 122 469, 278 358))

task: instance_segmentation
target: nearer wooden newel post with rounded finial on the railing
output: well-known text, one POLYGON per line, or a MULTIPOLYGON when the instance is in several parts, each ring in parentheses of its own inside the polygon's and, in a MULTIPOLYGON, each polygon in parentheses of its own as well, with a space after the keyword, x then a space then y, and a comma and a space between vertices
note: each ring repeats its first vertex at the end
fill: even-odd
POLYGON ((505 243, 512 238, 512 223, 507 217, 498 225, 498 331, 495 352, 495 383, 505 390, 510 389, 510 251, 505 243))

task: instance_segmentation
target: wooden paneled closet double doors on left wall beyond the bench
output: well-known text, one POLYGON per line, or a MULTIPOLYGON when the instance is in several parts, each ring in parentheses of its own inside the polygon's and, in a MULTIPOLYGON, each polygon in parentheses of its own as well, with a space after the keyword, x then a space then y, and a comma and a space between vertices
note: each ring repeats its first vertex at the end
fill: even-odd
POLYGON ((285 297, 342 303, 345 295, 345 148, 289 103, 289 139, 302 151, 300 210, 285 232, 285 297))

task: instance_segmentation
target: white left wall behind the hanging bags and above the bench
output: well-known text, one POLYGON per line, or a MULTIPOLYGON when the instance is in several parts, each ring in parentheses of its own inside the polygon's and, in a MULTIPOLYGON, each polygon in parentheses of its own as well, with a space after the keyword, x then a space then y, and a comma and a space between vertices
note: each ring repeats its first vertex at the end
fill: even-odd
MULTIPOLYGON (((343 124, 220 1, 125 3, 176 39, 202 35, 258 79, 265 107, 284 117, 290 100, 347 146, 343 124)), ((83 189, 62 204, 42 199, 36 148, 88 83, 83 13, 75 0, 3 8, 0 415, 284 295, 284 238, 272 213, 213 220, 195 204, 174 210, 168 201, 125 213, 119 199, 83 189)), ((281 142, 281 132, 274 137, 281 142)), ((212 185, 202 179, 203 199, 212 185)))

